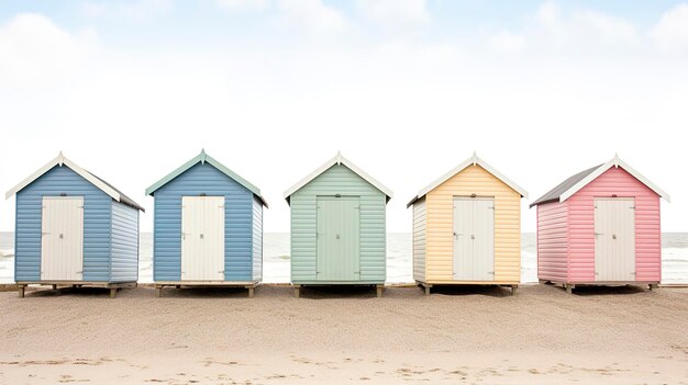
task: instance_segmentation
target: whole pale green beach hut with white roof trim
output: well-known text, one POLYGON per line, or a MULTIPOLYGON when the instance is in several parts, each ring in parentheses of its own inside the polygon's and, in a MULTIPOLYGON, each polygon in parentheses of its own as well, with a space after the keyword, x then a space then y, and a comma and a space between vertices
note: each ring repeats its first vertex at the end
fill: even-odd
POLYGON ((297 297, 302 285, 375 285, 381 296, 391 196, 341 154, 285 192, 297 297))

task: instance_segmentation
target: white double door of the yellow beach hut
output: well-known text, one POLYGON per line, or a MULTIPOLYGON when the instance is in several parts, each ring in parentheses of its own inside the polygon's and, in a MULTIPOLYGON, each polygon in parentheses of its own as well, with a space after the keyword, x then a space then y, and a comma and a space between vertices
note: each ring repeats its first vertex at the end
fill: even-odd
POLYGON ((454 197, 454 280, 493 281, 495 200, 454 197))

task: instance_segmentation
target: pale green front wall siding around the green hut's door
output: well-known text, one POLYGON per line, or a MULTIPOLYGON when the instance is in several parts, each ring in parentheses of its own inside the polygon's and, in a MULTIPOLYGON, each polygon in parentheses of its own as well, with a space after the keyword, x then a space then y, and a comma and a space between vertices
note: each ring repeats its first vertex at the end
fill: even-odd
MULTIPOLYGON (((386 276, 386 195, 343 165, 335 165, 295 192, 291 205, 291 281, 315 282, 318 195, 360 196, 360 281, 386 276)), ((353 283, 352 281, 343 283, 353 283)))

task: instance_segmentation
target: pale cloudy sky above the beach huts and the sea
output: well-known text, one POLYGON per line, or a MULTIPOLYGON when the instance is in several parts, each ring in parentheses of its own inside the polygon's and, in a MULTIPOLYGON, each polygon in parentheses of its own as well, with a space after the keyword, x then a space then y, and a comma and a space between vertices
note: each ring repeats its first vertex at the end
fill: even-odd
MULTIPOLYGON (((406 203, 474 151, 528 204, 614 154, 688 231, 688 2, 66 0, 0 3, 0 190, 67 158, 147 211, 204 149, 282 193, 337 151, 406 203)), ((14 226, 0 201, 0 230, 14 226)))

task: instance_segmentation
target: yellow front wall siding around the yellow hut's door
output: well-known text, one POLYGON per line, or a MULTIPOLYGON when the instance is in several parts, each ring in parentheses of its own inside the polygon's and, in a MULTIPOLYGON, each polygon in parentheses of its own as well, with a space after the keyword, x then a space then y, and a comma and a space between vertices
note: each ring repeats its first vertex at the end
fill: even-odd
MULTIPOLYGON (((495 197, 495 282, 521 281, 521 195, 478 165, 469 166, 428 193, 428 282, 452 281, 454 196, 495 197)), ((476 281, 480 283, 485 281, 476 281)))

